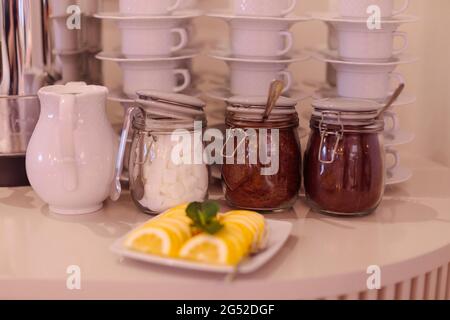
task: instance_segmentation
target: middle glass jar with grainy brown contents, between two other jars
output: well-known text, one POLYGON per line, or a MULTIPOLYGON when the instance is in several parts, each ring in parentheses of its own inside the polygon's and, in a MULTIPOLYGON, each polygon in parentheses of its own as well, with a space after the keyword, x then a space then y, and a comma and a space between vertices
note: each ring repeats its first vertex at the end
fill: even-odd
POLYGON ((299 119, 292 99, 281 98, 264 120, 266 99, 233 97, 226 113, 222 180, 232 207, 291 208, 301 186, 299 119))

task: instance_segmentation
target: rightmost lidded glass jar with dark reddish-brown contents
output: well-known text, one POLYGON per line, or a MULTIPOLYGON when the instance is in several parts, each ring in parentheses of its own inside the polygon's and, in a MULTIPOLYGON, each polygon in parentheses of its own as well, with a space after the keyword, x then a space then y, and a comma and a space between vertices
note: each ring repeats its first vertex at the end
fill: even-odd
POLYGON ((382 106, 335 98, 315 101, 313 108, 304 158, 308 202, 325 214, 372 213, 385 187, 382 106))

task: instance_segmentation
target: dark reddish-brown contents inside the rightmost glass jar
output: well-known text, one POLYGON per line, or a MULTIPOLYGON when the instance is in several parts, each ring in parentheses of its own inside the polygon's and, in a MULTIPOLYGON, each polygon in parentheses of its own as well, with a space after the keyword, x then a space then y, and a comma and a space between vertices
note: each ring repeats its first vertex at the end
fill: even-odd
POLYGON ((384 192, 384 149, 379 132, 350 130, 341 136, 322 137, 317 126, 311 127, 304 159, 305 191, 311 205, 327 214, 374 211, 384 192))

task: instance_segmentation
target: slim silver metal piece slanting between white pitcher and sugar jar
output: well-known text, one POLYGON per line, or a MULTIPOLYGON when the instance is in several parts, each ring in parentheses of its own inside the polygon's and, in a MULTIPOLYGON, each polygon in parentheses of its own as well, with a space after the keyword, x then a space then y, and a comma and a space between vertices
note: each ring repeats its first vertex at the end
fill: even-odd
POLYGON ((117 201, 120 198, 120 194, 122 193, 122 185, 120 183, 120 177, 123 172, 123 161, 125 158, 125 149, 127 147, 128 134, 131 128, 131 122, 133 120, 134 114, 136 112, 140 112, 141 109, 139 107, 131 107, 127 109, 125 114, 125 121, 123 123, 122 134, 120 136, 120 144, 119 151, 117 153, 116 158, 116 169, 114 173, 114 181, 111 186, 111 192, 109 197, 113 201, 117 201))

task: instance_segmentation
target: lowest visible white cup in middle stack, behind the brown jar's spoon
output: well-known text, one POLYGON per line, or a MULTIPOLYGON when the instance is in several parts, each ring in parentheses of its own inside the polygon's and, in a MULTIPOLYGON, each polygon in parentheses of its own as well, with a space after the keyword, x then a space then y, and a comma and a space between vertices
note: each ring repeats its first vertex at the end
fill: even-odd
POLYGON ((230 87, 233 95, 266 96, 273 80, 283 80, 283 93, 292 88, 293 78, 284 64, 230 63, 230 87))

